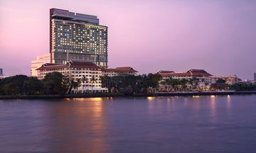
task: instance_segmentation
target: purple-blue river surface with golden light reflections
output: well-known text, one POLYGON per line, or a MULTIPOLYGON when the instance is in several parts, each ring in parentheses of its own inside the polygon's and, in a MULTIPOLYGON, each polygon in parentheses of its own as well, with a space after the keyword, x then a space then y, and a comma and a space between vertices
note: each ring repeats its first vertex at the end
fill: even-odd
POLYGON ((256 152, 256 96, 2 100, 0 152, 256 152))

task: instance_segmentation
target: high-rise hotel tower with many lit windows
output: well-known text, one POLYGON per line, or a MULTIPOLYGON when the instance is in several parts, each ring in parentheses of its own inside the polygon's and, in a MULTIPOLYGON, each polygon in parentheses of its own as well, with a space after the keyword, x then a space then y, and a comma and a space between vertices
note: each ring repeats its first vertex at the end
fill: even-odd
POLYGON ((50 62, 92 61, 107 67, 107 26, 97 16, 50 9, 50 62))

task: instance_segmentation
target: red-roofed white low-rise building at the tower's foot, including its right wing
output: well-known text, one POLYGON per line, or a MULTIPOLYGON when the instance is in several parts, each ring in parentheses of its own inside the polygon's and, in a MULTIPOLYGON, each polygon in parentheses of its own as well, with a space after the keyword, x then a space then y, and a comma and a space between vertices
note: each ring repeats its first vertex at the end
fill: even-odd
POLYGON ((78 92, 84 91, 107 91, 106 88, 102 88, 101 79, 102 76, 124 76, 134 75, 137 73, 132 67, 117 67, 116 69, 105 69, 97 66, 94 62, 82 62, 82 61, 69 61, 67 64, 55 64, 46 63, 36 69, 38 72, 38 79, 43 79, 46 74, 51 72, 60 72, 65 77, 70 77, 74 81, 80 79, 82 86, 78 89, 78 92))

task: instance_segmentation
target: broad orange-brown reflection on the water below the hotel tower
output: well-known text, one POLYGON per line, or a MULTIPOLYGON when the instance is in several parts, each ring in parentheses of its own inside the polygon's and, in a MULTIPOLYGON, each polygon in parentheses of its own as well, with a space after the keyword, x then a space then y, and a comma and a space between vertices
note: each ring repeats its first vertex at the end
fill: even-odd
MULTIPOLYGON (((103 152, 105 145, 104 132, 106 121, 104 117, 103 98, 73 98, 65 99, 68 105, 54 107, 51 115, 54 135, 53 140, 65 140, 52 143, 51 150, 58 152, 103 152), (90 131, 90 133, 88 133, 90 131)), ((105 148, 106 149, 106 148, 105 148)))

